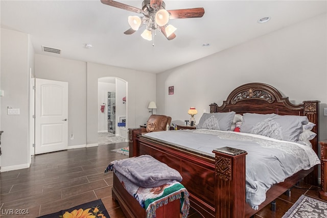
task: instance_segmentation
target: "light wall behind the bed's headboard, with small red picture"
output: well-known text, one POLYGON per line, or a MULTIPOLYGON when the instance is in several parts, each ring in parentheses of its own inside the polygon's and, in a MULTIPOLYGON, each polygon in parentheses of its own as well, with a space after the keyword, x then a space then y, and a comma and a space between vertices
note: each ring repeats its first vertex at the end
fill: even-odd
POLYGON ((325 139, 326 27, 326 14, 320 15, 158 74, 157 112, 172 116, 172 123, 183 124, 190 118, 189 107, 195 106, 198 122, 203 110, 209 112, 209 104, 221 105, 234 88, 262 82, 295 104, 321 101, 319 138, 325 139), (173 95, 168 95, 169 86, 174 86, 173 95))

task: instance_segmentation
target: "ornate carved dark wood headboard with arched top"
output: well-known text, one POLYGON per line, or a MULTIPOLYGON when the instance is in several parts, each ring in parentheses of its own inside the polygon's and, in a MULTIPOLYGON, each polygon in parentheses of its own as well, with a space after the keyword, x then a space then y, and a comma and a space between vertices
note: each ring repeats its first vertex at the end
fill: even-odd
MULTIPOLYGON (((313 132, 317 136, 311 140, 312 148, 318 154, 318 115, 320 101, 303 101, 302 104, 292 104, 288 97, 282 94, 274 87, 264 83, 247 83, 234 89, 223 101, 221 106, 213 103, 210 106, 210 112, 229 112, 236 113, 275 113, 279 115, 299 115, 307 116, 310 122, 316 124, 313 132)), ((313 177, 318 178, 317 168, 313 172, 313 177)), ((313 178, 312 177, 312 178, 313 178)), ((317 181, 317 180, 316 180, 317 181)))

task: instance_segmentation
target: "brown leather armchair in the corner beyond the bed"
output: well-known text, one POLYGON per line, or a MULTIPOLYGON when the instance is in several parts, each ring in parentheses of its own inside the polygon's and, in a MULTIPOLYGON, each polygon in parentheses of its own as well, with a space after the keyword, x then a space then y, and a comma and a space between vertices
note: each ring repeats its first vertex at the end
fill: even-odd
POLYGON ((142 133, 156 132, 156 131, 165 131, 167 124, 170 126, 172 117, 166 115, 152 114, 147 122, 147 127, 142 127, 142 133))

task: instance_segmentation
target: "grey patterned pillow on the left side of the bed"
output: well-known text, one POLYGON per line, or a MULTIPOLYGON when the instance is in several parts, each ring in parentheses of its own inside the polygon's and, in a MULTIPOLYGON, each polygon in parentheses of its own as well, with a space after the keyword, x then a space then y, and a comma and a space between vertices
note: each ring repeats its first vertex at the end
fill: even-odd
POLYGON ((197 129, 230 131, 235 112, 203 113, 197 129))

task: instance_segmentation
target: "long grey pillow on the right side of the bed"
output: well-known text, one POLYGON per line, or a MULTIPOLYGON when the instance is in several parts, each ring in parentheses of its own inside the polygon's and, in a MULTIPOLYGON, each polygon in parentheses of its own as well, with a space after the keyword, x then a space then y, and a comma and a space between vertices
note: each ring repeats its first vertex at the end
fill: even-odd
POLYGON ((245 113, 241 132, 298 142, 302 126, 308 123, 307 116, 245 113))

